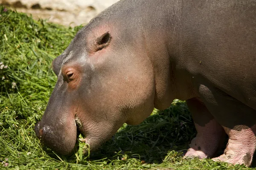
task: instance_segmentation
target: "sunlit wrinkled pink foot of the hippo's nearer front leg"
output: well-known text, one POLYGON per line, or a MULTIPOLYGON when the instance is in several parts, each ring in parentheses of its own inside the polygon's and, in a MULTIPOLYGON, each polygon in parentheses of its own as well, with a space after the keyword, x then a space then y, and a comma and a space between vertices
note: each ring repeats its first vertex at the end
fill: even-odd
POLYGON ((250 167, 253 154, 256 149, 256 125, 249 128, 238 125, 233 129, 224 127, 229 136, 227 147, 224 154, 213 158, 213 161, 224 161, 230 164, 244 164, 250 167))

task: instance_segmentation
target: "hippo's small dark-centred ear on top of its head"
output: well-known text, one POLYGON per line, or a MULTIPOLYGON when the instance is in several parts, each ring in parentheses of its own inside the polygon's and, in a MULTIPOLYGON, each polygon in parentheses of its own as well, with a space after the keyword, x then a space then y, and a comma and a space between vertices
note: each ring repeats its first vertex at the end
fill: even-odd
POLYGON ((96 52, 96 51, 100 51, 103 48, 108 47, 108 45, 111 42, 111 35, 109 34, 109 32, 106 32, 105 34, 102 34, 100 37, 96 38, 96 40, 94 40, 94 42, 91 45, 91 51, 96 52))

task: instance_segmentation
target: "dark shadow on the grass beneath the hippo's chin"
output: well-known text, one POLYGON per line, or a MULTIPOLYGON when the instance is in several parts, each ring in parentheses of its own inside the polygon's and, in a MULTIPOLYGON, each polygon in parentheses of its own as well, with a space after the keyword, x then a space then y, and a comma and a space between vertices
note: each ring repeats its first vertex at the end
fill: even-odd
POLYGON ((140 125, 127 125, 90 159, 117 159, 122 155, 147 163, 160 163, 170 150, 187 149, 195 127, 185 102, 174 102, 164 111, 154 111, 140 125))

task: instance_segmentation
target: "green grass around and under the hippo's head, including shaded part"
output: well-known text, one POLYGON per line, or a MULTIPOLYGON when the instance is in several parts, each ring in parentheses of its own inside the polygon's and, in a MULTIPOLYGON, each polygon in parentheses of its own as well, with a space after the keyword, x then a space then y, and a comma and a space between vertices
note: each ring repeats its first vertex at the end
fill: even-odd
POLYGON ((182 101, 155 110, 137 126, 123 125, 90 157, 55 154, 35 136, 57 77, 52 60, 61 54, 81 26, 67 28, 34 21, 26 14, 0 6, 0 169, 42 170, 241 170, 209 159, 182 159, 195 127, 182 101), (2 67, 3 67, 2 66, 2 67), (1 65, 0 65, 1 68, 1 65), (8 164, 8 165, 7 165, 8 164))

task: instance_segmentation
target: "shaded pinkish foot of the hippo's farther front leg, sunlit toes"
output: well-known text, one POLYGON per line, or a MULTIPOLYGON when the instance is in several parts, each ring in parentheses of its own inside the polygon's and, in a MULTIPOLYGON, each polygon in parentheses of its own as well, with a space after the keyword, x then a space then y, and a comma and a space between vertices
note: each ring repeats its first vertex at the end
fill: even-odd
POLYGON ((215 119, 212 119, 204 126, 195 123, 195 127, 198 133, 189 144, 190 148, 184 158, 198 157, 199 159, 204 159, 214 156, 220 143, 224 141, 223 128, 215 119))

